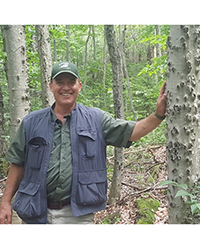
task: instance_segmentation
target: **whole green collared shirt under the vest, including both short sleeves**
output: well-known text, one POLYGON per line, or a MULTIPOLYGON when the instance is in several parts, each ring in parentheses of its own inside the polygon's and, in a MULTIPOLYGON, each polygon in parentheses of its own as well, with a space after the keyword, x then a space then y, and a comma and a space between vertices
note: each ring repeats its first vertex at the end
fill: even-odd
MULTIPOLYGON (((61 201, 70 197, 72 186, 72 156, 70 143, 71 114, 64 117, 63 124, 51 110, 55 121, 54 139, 51 150, 49 168, 47 170, 47 198, 52 201, 61 201)), ((114 119, 110 114, 102 111, 102 133, 108 145, 116 147, 129 147, 129 138, 134 129, 135 122, 114 119)), ((7 160, 23 166, 25 162, 25 133, 21 123, 16 137, 9 148, 7 160)))

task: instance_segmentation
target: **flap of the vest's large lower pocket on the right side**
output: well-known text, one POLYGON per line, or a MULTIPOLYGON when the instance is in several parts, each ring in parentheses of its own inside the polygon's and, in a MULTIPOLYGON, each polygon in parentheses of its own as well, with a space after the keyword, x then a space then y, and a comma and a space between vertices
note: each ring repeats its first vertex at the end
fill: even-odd
POLYGON ((106 181, 107 181, 106 170, 79 173, 79 182, 81 184, 102 183, 106 181))

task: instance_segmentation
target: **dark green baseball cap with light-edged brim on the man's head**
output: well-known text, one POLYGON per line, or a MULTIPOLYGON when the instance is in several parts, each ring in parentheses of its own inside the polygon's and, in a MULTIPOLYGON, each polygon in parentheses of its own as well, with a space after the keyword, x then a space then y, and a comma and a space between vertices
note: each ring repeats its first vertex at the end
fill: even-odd
POLYGON ((56 76, 58 76, 61 73, 70 73, 74 75, 75 77, 80 78, 76 65, 71 62, 56 63, 52 68, 51 78, 54 79, 56 76))

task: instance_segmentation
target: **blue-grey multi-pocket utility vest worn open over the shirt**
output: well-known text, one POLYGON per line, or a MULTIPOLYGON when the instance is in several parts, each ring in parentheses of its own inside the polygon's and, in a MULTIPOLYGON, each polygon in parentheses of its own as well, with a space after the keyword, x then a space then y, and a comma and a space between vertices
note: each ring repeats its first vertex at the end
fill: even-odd
MULTIPOLYGON (((51 108, 34 111, 23 119, 26 137, 24 177, 13 209, 29 224, 47 223, 46 176, 54 137, 51 108)), ((106 207, 106 143, 101 129, 102 112, 77 104, 72 110, 71 207, 74 216, 106 207)))

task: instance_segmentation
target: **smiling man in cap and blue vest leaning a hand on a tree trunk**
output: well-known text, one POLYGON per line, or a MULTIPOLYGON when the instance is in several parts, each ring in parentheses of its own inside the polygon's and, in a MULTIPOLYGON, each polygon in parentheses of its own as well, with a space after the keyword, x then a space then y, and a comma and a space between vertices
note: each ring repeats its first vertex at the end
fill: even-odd
POLYGON ((1 224, 12 223, 16 191, 13 208, 24 223, 92 223, 106 206, 106 146, 129 147, 165 118, 165 83, 156 113, 137 123, 77 104, 82 83, 72 63, 54 65, 49 86, 55 103, 27 115, 9 149, 1 224))

